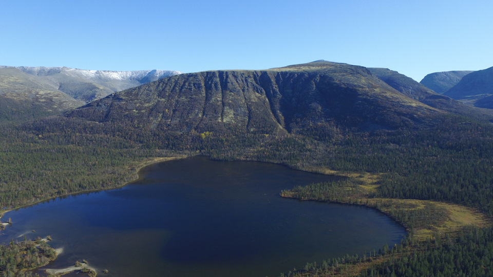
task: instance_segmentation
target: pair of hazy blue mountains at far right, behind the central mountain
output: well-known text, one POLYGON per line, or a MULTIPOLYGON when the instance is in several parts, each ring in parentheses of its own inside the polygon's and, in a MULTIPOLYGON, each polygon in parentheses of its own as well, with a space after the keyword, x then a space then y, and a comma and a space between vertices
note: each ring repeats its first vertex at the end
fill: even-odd
POLYGON ((493 109, 493 67, 479 71, 447 71, 426 75, 421 84, 462 103, 493 109))

